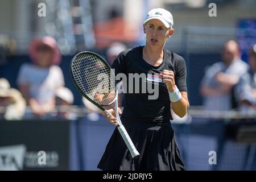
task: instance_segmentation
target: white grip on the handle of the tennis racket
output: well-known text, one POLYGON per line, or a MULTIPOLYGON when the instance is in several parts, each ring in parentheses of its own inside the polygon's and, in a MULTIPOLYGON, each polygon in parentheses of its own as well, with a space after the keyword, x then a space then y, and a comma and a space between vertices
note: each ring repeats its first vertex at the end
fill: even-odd
POLYGON ((133 158, 135 158, 135 156, 139 155, 139 152, 137 151, 137 149, 135 148, 133 142, 131 141, 131 138, 129 137, 125 127, 123 125, 119 125, 117 127, 117 129, 119 130, 119 133, 121 134, 123 140, 125 141, 126 146, 128 147, 131 156, 133 158))

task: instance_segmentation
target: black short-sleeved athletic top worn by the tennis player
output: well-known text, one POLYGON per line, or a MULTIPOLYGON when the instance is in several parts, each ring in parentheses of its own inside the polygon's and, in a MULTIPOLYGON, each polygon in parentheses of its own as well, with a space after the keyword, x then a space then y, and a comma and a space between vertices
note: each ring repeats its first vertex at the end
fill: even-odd
POLYGON ((123 80, 123 88, 126 92, 122 117, 153 123, 170 122, 172 119, 171 101, 167 87, 159 77, 159 73, 162 73, 164 69, 174 71, 177 88, 180 92, 187 92, 185 61, 183 57, 164 49, 162 64, 154 67, 143 60, 142 51, 143 46, 123 51, 112 65, 115 76, 118 73, 124 73, 127 78, 127 82, 124 78, 120 79, 123 80), (133 74, 129 73, 138 73, 140 78, 136 82, 136 79, 132 77, 133 74), (151 89, 146 89, 147 87, 151 89), (152 89, 155 92, 152 92, 152 89), (151 96, 151 99, 148 96, 151 96))

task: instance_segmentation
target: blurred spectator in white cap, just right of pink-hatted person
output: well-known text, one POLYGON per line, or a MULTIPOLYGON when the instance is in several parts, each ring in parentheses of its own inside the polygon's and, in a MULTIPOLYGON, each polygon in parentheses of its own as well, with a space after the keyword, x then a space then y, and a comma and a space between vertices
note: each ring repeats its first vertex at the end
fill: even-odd
POLYGON ((66 87, 61 87, 56 90, 56 106, 57 106, 57 118, 72 119, 72 113, 70 112, 70 106, 73 105, 74 96, 71 90, 66 87))

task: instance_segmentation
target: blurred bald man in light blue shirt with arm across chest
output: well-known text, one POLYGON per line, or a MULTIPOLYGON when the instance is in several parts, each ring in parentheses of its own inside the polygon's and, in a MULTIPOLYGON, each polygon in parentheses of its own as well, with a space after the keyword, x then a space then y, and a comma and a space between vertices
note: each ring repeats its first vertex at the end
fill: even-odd
POLYGON ((233 109, 233 86, 248 70, 241 60, 238 44, 234 40, 225 43, 223 62, 213 64, 205 72, 200 92, 204 97, 206 110, 228 111, 233 109))

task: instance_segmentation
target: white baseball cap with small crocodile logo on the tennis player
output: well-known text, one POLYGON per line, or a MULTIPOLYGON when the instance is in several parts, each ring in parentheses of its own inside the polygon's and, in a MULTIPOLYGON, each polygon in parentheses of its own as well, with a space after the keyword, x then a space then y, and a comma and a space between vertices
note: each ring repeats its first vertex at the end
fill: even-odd
POLYGON ((167 28, 174 26, 174 19, 172 18, 172 14, 169 11, 162 8, 150 10, 147 13, 146 19, 144 20, 143 24, 145 24, 148 20, 151 19, 159 19, 167 28))

